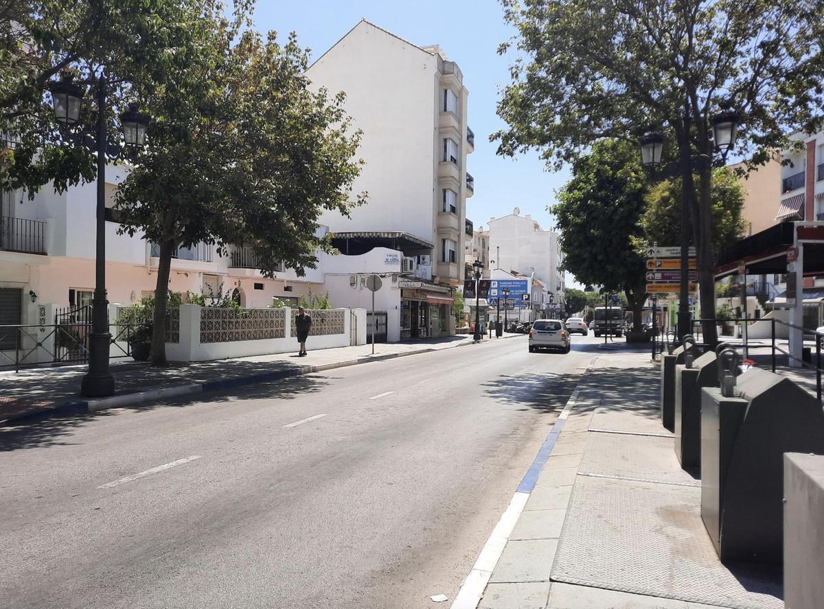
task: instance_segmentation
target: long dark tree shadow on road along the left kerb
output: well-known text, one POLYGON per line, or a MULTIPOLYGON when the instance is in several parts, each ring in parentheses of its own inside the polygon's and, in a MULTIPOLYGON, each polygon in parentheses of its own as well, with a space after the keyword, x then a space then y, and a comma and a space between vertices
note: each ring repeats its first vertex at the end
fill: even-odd
POLYGON ((105 416, 117 416, 118 411, 149 412, 157 408, 185 408, 199 402, 233 402, 237 399, 283 399, 292 400, 320 392, 330 377, 319 374, 293 376, 259 384, 240 385, 236 388, 192 393, 187 396, 171 397, 146 404, 119 407, 117 410, 103 410, 94 414, 67 416, 36 416, 19 421, 8 421, 0 425, 0 453, 19 449, 35 449, 49 446, 71 446, 78 444, 71 439, 74 430, 88 425, 105 416))

